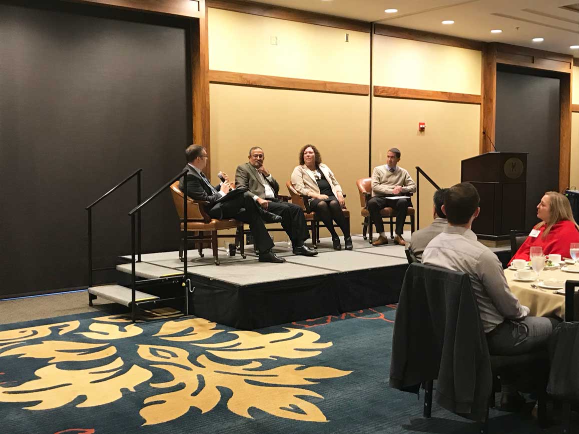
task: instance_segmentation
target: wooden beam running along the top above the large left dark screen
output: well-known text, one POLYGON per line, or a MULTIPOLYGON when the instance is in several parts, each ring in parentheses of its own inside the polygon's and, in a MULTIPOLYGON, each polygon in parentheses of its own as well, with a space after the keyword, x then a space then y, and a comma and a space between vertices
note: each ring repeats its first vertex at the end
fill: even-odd
POLYGON ((204 0, 65 0, 75 3, 112 6, 114 8, 144 10, 182 17, 199 18, 204 0))

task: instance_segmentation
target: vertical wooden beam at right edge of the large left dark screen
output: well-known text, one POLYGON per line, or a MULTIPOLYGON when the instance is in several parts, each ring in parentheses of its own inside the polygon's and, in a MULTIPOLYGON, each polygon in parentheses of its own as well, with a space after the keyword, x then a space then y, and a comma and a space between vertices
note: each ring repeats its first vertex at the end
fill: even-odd
MULTIPOLYGON (((203 17, 192 20, 191 34, 191 73, 193 91, 193 142, 205 146, 211 157, 211 125, 209 117, 209 41, 207 30, 207 8, 201 0, 203 17)), ((211 159, 205 168, 211 173, 211 159)))

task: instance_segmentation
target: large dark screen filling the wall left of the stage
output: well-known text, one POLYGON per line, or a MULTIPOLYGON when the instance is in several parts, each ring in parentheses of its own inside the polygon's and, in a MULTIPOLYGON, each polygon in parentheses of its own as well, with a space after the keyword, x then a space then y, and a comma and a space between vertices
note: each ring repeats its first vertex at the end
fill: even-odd
MULTIPOLYGON (((86 285, 85 207, 140 167, 150 196, 191 137, 182 22, 26 4, 0 2, 0 298, 86 285)), ((134 179, 94 208, 94 267, 130 253, 136 203, 134 179)), ((168 191, 142 222, 144 252, 178 248, 168 191)))

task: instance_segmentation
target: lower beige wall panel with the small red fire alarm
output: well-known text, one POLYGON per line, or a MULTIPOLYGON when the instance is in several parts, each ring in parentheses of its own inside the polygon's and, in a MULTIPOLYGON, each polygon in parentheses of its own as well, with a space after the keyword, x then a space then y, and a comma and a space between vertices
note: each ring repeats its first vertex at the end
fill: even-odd
MULTIPOLYGON (((388 149, 396 147, 402 153, 400 166, 413 179, 420 166, 439 186, 449 187, 460 182, 460 161, 478 155, 478 105, 374 98, 372 110, 372 167, 385 164, 388 149), (426 122, 424 133, 418 131, 419 122, 426 122)), ((421 175, 420 227, 433 220, 434 189, 427 185, 421 175)))

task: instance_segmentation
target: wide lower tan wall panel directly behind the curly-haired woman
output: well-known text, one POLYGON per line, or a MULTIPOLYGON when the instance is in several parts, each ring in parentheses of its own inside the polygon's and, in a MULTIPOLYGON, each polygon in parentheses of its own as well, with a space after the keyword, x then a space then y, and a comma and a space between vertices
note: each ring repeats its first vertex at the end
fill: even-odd
MULTIPOLYGON (((233 175, 251 146, 262 146, 264 165, 285 182, 299 149, 316 145, 346 193, 351 231, 361 233, 356 179, 368 172, 368 98, 357 95, 211 84, 211 167, 233 175)), ((212 180, 215 175, 212 174, 212 180)), ((327 236, 323 233, 322 236, 327 236)), ((285 234, 276 234, 284 240, 285 234)))

